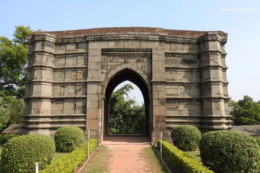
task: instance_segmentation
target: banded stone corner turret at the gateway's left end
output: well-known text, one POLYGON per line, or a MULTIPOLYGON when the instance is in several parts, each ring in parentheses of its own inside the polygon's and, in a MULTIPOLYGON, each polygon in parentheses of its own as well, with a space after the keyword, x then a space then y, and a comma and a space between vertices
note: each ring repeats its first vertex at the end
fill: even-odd
POLYGON ((29 44, 22 134, 50 135, 55 35, 36 32, 29 44))

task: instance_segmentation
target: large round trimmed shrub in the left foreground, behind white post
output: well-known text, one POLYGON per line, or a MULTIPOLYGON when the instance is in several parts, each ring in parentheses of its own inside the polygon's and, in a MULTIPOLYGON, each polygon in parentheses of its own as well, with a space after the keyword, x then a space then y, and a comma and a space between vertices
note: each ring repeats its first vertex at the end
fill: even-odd
POLYGON ((35 172, 51 163, 55 154, 55 143, 46 135, 24 135, 10 139, 1 153, 1 172, 35 172))

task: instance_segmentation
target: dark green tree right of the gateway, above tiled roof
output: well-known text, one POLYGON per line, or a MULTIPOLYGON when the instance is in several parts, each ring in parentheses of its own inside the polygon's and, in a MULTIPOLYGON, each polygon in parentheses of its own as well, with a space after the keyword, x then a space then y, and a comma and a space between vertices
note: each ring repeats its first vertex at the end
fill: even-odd
POLYGON ((238 102, 230 100, 229 107, 235 126, 260 124, 260 101, 245 95, 238 102))

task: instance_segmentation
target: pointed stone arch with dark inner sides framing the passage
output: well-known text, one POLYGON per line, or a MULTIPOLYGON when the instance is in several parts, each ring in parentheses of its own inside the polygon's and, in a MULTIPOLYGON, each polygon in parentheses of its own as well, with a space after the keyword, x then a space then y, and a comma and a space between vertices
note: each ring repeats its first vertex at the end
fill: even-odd
POLYGON ((111 94, 120 83, 130 81, 134 83, 143 94, 146 114, 146 135, 150 136, 152 132, 152 85, 151 79, 137 66, 132 64, 118 65, 112 69, 101 83, 101 96, 103 98, 103 135, 109 135, 109 105, 111 94))

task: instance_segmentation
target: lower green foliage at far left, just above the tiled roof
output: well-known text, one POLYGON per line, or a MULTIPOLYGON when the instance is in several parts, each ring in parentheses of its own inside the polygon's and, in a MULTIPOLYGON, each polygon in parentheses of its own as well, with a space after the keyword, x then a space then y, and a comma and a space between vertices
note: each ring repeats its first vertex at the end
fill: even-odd
POLYGON ((21 124, 24 102, 13 96, 0 98, 0 132, 10 124, 21 124))

